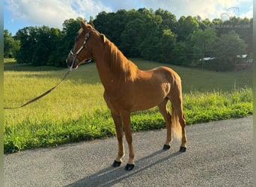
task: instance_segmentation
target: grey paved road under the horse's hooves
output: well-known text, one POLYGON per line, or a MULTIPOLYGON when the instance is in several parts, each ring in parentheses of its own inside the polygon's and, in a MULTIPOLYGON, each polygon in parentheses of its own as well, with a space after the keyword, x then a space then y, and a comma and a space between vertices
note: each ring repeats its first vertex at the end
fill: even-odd
POLYGON ((165 129, 133 137, 132 171, 110 166, 117 141, 108 138, 6 155, 4 186, 253 186, 252 117, 187 126, 186 153, 177 141, 161 150, 165 129))

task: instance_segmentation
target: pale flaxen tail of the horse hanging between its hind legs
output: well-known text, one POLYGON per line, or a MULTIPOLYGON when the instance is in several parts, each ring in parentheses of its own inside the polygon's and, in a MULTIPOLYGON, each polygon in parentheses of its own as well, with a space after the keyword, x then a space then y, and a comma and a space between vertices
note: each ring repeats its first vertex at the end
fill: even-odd
POLYGON ((181 126, 179 116, 177 114, 177 108, 171 103, 171 130, 174 133, 174 136, 180 140, 182 137, 181 126))

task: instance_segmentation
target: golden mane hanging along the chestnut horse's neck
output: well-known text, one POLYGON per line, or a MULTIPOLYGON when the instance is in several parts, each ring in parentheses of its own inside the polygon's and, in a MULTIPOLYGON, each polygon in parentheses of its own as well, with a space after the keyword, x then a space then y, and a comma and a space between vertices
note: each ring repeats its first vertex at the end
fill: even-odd
POLYGON ((106 63, 109 64, 113 73, 118 77, 124 77, 125 81, 133 82, 137 75, 138 67, 132 61, 129 61, 118 47, 107 38, 104 50, 106 63))

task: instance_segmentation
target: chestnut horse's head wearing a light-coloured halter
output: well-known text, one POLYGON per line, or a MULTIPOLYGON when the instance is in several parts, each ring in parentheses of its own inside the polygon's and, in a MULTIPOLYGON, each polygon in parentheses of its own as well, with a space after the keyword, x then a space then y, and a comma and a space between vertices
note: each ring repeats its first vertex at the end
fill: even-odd
POLYGON ((81 22, 81 27, 82 28, 78 32, 79 35, 76 37, 75 44, 66 59, 67 67, 70 68, 70 70, 73 68, 76 69, 83 61, 92 58, 91 47, 88 46, 88 40, 91 31, 95 31, 94 25, 92 22, 87 25, 85 25, 84 22, 81 22))

